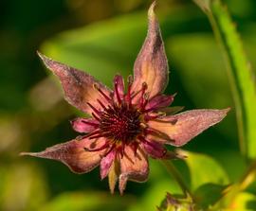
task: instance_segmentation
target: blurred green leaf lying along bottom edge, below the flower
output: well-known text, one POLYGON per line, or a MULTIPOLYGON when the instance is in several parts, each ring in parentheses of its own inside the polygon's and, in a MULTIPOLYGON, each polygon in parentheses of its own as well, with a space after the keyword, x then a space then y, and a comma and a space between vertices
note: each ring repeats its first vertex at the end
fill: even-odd
POLYGON ((124 210, 134 202, 130 196, 113 196, 108 192, 68 192, 57 196, 38 211, 124 210))

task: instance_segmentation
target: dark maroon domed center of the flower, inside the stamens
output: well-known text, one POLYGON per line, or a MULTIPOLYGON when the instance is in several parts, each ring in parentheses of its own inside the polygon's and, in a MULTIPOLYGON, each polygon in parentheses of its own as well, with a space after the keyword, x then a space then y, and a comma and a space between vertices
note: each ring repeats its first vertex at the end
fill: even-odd
POLYGON ((101 114, 100 129, 105 137, 128 143, 141 132, 140 113, 126 103, 114 104, 101 114))

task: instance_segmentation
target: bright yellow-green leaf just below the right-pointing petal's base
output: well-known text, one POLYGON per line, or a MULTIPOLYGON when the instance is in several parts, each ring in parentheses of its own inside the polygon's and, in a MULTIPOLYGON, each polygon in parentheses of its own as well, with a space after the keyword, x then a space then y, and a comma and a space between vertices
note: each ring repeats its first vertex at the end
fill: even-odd
POLYGON ((190 169, 192 190, 209 183, 216 185, 229 184, 229 178, 225 170, 210 156, 191 151, 182 151, 181 153, 188 156, 185 162, 190 169))

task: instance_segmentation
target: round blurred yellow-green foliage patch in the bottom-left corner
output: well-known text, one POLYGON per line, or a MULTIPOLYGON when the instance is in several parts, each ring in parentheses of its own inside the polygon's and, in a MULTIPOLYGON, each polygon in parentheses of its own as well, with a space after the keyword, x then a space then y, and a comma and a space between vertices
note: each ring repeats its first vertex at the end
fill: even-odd
POLYGON ((47 185, 42 170, 16 163, 0 167, 0 210, 34 211, 46 202, 47 185))

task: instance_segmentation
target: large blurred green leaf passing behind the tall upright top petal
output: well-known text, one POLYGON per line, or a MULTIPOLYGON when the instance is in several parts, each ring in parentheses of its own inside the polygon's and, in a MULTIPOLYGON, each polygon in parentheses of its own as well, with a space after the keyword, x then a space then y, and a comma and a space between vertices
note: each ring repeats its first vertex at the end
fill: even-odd
MULTIPOLYGON (((192 30, 187 26, 202 18, 196 12, 186 14, 186 8, 169 12, 169 15, 159 18, 164 39, 170 34, 184 31, 184 28, 192 30)), ((195 30, 197 25, 194 26, 195 30)), ((112 79, 118 72, 123 77, 132 74, 146 33, 147 13, 144 11, 66 31, 46 41, 41 51, 112 86, 112 79)))

